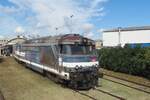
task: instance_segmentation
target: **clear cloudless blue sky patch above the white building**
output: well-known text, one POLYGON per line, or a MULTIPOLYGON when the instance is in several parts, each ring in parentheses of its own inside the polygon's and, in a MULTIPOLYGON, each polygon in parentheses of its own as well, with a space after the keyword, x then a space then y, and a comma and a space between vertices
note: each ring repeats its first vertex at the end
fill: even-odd
POLYGON ((102 28, 150 25, 150 0, 109 0, 102 28))

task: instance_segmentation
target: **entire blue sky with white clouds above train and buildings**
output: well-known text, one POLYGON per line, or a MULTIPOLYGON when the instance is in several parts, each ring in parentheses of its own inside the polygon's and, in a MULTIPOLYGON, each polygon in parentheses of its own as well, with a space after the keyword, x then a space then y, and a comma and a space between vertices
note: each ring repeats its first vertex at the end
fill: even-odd
POLYGON ((99 39, 102 29, 150 25, 149 4, 150 0, 0 0, 0 38, 73 31, 99 39))

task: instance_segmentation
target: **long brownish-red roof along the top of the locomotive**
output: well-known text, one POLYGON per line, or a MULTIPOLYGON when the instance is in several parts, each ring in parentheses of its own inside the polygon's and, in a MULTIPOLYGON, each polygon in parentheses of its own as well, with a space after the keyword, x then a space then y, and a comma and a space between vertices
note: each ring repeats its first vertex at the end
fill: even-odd
POLYGON ((41 37, 36 39, 30 39, 25 41, 25 44, 31 44, 31 43, 61 44, 61 43, 83 42, 83 41, 94 43, 93 40, 83 37, 79 34, 66 34, 66 35, 59 35, 59 36, 47 36, 47 37, 41 37))

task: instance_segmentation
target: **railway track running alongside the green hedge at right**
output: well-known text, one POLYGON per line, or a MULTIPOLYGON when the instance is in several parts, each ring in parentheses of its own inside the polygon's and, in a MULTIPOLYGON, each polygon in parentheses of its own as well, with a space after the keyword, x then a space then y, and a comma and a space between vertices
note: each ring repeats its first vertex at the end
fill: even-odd
POLYGON ((126 86, 126 87, 129 87, 129 88, 132 88, 132 89, 135 89, 135 90, 138 90, 138 91, 141 91, 141 92, 144 92, 144 93, 150 94, 150 91, 146 90, 146 89, 150 90, 150 86, 147 86, 147 85, 143 85, 143 84, 140 84, 140 83, 132 82, 132 81, 129 81, 129 80, 126 80, 126 79, 118 78, 118 77, 107 75, 107 74, 104 74, 103 79, 107 80, 107 81, 111 81, 113 83, 117 83, 117 84, 126 86), (105 76, 107 76, 107 77, 105 77, 105 76), (119 80, 119 81, 116 81, 116 79, 119 80), (134 86, 126 84, 125 82, 132 83, 132 84, 134 84, 134 86))

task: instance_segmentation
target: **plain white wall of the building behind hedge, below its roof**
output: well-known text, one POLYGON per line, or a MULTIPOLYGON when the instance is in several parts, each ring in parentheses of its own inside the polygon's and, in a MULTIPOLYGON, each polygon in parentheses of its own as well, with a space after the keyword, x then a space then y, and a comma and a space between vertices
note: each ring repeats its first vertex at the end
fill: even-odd
POLYGON ((121 46, 129 43, 150 43, 150 30, 103 32, 103 46, 121 46), (120 42, 119 42, 120 38, 120 42))

